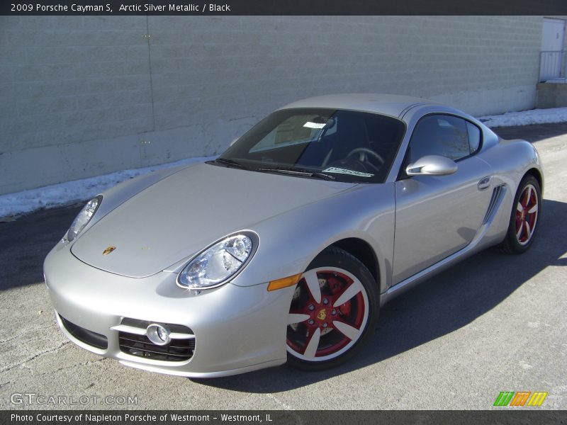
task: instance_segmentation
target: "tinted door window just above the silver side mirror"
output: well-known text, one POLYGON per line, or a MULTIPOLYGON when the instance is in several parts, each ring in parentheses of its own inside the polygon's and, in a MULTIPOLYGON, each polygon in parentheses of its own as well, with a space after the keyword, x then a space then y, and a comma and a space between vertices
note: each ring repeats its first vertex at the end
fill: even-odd
POLYGON ((467 124, 465 120, 451 115, 429 115, 422 118, 410 140, 409 162, 415 162, 425 155, 440 155, 453 160, 468 157, 473 152, 468 143, 469 131, 473 133, 474 130, 468 130, 467 124))

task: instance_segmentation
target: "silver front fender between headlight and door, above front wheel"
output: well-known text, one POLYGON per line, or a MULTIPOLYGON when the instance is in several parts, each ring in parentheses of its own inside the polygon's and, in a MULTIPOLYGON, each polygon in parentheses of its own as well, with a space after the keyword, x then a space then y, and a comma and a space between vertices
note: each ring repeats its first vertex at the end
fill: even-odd
POLYGON ((232 283, 258 285, 303 273, 327 246, 354 237, 374 250, 384 292, 391 285, 394 197, 393 183, 360 184, 258 223, 252 227, 259 236, 256 255, 232 283))

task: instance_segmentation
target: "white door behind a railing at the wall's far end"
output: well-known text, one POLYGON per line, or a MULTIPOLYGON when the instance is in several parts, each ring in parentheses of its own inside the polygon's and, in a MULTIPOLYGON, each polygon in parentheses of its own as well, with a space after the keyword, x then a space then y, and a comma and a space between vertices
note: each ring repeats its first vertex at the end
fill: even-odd
POLYGON ((541 63, 539 65, 540 81, 565 77, 561 75, 565 22, 563 19, 544 18, 544 28, 541 34, 541 63))

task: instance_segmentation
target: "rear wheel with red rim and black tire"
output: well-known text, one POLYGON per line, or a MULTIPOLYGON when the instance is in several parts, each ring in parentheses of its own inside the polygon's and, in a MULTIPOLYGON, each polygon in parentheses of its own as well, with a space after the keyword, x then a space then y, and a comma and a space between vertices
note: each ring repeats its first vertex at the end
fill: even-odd
POLYGON ((523 254, 532 246, 540 224, 541 188, 537 179, 528 174, 520 181, 520 186, 518 186, 516 196, 514 197, 514 203, 512 203, 506 237, 497 246, 497 249, 507 254, 523 254), (526 197, 529 198, 527 201, 526 197), (529 211, 534 209, 534 202, 535 211, 529 213, 529 211), (528 208, 525 208, 524 204, 527 204, 528 208), (522 206, 522 210, 525 210, 523 213, 520 211, 519 205, 522 206))

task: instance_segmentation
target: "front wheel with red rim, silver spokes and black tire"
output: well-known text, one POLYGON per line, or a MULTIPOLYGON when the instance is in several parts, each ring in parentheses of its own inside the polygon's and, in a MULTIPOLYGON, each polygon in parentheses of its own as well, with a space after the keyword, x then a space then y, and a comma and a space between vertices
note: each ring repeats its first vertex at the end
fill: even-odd
POLYGON ((378 308, 376 280, 368 268, 347 251, 325 249, 310 263, 293 295, 290 319, 301 321, 288 324, 288 364, 323 370, 349 360, 376 329, 378 308), (319 302, 308 281, 318 285, 319 302))

